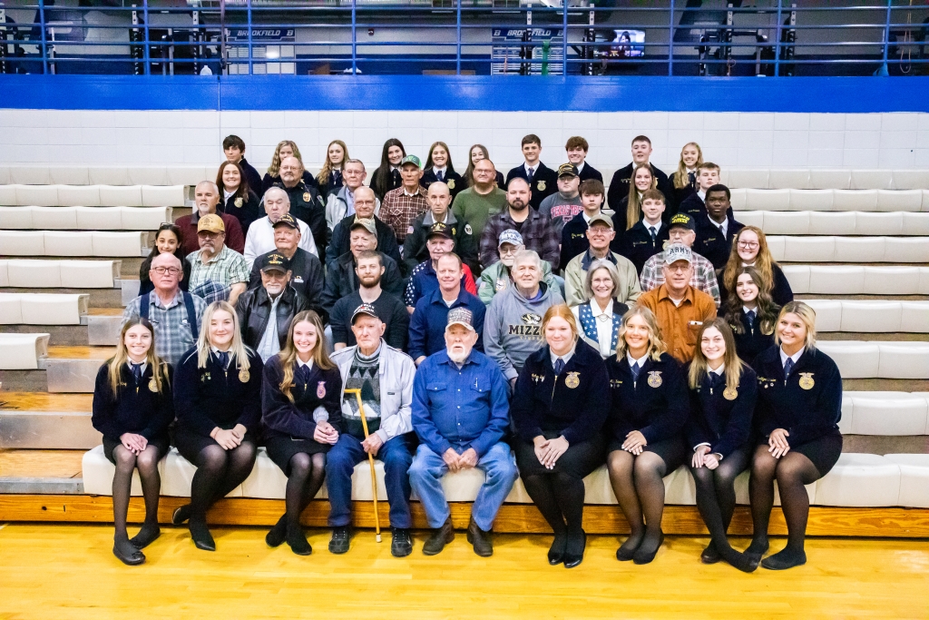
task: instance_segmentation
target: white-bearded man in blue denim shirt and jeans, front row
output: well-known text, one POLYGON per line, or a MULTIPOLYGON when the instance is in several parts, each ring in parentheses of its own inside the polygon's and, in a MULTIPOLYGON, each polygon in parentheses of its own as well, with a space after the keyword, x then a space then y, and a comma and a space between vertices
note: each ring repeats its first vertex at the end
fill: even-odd
POLYGON ((474 313, 449 310, 445 350, 425 359, 412 388, 412 426, 419 436, 410 483, 425 508, 433 533, 423 546, 436 555, 454 538, 442 477, 478 468, 485 480, 471 508, 467 540, 475 553, 493 553, 491 528, 517 480, 516 461, 504 442, 509 424, 506 380, 500 367, 474 350, 474 313))

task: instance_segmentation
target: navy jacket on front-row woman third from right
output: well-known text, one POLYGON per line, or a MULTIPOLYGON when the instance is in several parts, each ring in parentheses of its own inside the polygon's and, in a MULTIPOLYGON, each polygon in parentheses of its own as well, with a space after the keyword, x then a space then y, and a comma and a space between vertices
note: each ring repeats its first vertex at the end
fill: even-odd
POLYGON ((633 384, 633 372, 625 357, 607 361, 609 375, 609 426, 614 440, 625 441, 633 430, 648 443, 663 442, 687 424, 687 381, 680 364, 667 353, 655 362, 648 358, 633 384))

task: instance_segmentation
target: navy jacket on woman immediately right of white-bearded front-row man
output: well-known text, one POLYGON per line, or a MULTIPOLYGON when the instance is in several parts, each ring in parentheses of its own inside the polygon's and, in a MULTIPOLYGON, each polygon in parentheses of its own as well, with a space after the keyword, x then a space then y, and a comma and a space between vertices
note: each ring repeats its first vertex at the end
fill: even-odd
POLYGON ((569 443, 588 441, 603 429, 608 410, 607 369, 599 351, 581 340, 560 376, 555 375, 547 345, 532 353, 519 373, 510 405, 524 442, 543 431, 561 433, 569 443))

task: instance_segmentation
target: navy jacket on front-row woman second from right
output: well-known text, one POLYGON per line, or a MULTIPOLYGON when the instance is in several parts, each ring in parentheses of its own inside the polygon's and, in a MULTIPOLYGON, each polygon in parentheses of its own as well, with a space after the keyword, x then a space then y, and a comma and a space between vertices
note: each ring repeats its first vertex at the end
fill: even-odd
POLYGON ((697 389, 690 390, 687 442, 691 449, 699 443, 709 443, 710 452, 725 458, 749 441, 758 381, 751 368, 743 367, 736 396, 730 401, 724 396, 726 378, 720 378, 722 384, 713 388, 708 373, 697 389))

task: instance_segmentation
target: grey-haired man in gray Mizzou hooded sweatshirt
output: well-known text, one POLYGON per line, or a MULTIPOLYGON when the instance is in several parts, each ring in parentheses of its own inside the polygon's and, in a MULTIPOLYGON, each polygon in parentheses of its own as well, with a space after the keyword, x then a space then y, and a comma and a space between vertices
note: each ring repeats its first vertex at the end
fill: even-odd
POLYGON ((545 341, 542 317, 545 310, 564 303, 560 293, 542 282, 542 258, 522 250, 513 258, 513 286, 493 297, 484 318, 484 353, 503 371, 510 385, 516 383, 523 363, 545 341))

